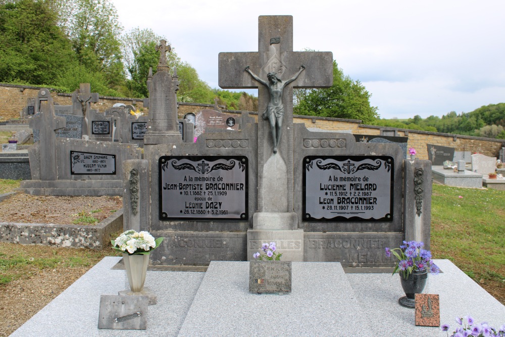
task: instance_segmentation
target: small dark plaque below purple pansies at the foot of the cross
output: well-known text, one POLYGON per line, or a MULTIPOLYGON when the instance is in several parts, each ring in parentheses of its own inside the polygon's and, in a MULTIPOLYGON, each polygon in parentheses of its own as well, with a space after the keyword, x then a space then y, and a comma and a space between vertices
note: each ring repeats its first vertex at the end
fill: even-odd
POLYGON ((250 261, 249 293, 291 293, 291 261, 250 261))

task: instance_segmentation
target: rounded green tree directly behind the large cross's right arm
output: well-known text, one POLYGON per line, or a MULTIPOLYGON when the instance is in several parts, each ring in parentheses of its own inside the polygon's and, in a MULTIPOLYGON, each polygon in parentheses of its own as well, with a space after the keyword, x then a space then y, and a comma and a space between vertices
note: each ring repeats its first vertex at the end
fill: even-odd
POLYGON ((370 106, 371 94, 360 81, 343 74, 333 61, 333 85, 327 89, 296 89, 294 113, 298 115, 361 119, 370 124, 378 117, 370 106))

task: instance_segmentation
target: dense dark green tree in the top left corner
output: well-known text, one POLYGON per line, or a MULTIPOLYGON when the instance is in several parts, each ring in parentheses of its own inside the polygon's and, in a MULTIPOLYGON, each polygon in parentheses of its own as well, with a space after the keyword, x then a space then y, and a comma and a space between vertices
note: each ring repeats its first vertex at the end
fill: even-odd
POLYGON ((70 41, 45 2, 0 4, 0 81, 43 85, 77 64, 70 41))

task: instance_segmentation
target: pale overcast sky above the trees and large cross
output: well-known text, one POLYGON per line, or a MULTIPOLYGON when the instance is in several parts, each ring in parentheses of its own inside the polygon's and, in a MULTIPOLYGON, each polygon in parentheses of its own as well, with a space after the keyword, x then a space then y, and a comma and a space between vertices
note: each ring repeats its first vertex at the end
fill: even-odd
POLYGON ((332 52, 372 93, 381 118, 505 102, 502 0, 112 2, 125 31, 165 36, 211 87, 218 87, 219 52, 258 51, 258 16, 292 15, 293 49, 332 52))

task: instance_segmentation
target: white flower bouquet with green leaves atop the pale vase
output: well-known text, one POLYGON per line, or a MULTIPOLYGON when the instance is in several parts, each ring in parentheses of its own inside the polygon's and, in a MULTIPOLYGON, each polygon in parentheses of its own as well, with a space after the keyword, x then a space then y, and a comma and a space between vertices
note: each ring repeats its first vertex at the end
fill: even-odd
POLYGON ((149 254, 156 249, 163 241, 163 237, 156 240, 153 235, 146 231, 136 232, 133 229, 127 230, 119 235, 115 240, 111 240, 112 248, 121 252, 134 254, 149 254))

